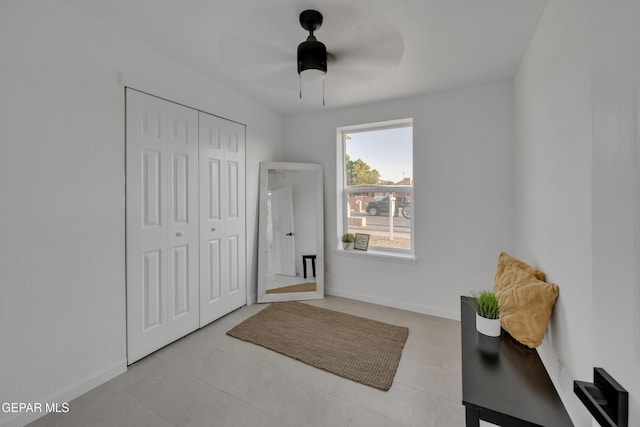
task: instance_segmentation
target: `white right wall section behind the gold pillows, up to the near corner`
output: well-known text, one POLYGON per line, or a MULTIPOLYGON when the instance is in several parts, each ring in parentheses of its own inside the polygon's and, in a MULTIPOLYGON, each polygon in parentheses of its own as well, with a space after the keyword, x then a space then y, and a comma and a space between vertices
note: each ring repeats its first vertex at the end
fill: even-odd
POLYGON ((571 396, 572 381, 589 379, 593 366, 591 72, 580 3, 549 2, 516 78, 513 255, 560 287, 540 353, 576 425, 585 425, 571 396))

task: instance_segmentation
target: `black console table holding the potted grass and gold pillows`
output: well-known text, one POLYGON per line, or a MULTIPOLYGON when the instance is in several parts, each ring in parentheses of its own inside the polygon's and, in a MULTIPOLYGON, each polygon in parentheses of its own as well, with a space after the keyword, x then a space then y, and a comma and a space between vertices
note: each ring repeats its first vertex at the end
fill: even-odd
POLYGON ((461 297, 462 403, 467 427, 480 420, 501 426, 573 426, 538 352, 506 331, 476 332, 475 311, 461 297))

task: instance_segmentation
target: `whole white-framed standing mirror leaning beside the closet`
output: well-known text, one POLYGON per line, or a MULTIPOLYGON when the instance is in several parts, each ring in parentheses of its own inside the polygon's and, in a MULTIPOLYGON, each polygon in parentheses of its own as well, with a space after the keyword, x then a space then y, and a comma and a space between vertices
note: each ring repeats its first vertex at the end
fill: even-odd
POLYGON ((260 162, 258 302, 324 298, 322 165, 260 162))

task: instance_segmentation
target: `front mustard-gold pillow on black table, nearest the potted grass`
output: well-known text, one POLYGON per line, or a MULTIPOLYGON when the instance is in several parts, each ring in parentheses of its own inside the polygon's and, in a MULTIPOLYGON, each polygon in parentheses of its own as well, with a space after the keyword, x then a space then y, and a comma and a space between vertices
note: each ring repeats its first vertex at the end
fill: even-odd
POLYGON ((511 286, 496 293, 500 304, 500 323, 522 344, 535 348, 542 344, 558 285, 538 280, 527 271, 512 275, 511 286))

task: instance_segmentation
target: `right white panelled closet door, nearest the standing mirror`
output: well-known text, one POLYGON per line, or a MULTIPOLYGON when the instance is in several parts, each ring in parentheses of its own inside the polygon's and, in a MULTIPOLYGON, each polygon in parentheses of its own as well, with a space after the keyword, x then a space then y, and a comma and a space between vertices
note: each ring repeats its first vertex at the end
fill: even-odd
POLYGON ((200 112, 200 326, 246 303, 245 127, 200 112))

